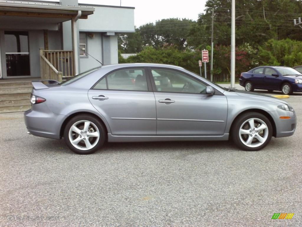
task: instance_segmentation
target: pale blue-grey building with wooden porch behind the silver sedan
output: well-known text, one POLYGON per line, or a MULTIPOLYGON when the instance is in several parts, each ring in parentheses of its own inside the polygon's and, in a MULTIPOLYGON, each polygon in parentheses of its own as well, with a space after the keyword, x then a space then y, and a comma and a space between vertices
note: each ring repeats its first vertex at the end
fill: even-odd
POLYGON ((60 81, 98 61, 116 64, 125 32, 134 32, 133 7, 0 0, 0 79, 60 81))

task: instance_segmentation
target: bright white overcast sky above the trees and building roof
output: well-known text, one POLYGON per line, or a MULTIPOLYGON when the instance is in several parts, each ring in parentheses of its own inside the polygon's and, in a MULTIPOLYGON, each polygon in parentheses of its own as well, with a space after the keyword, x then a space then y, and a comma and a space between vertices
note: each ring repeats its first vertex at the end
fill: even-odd
MULTIPOLYGON (((79 3, 119 6, 120 0, 79 0, 79 3)), ((204 12, 206 0, 121 0, 121 3, 135 7, 134 25, 139 27, 165 18, 197 20, 198 14, 204 12)))

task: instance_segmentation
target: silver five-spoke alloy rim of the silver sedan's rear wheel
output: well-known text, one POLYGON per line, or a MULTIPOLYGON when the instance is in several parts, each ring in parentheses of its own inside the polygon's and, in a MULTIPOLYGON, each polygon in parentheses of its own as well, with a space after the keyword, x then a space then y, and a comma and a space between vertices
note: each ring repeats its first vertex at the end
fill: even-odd
POLYGON ((88 120, 80 120, 69 129, 69 141, 79 150, 90 150, 100 139, 98 127, 88 120))

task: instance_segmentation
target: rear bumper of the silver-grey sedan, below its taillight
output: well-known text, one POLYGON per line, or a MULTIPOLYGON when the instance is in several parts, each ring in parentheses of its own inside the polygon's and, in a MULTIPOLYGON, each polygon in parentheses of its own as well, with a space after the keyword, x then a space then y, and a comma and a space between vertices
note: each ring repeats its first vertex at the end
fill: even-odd
MULTIPOLYGON (((45 106, 43 109, 45 110, 45 106)), ((24 121, 28 133, 51 139, 60 139, 60 128, 64 118, 65 115, 55 114, 50 110, 48 112, 37 110, 24 112, 24 121)))

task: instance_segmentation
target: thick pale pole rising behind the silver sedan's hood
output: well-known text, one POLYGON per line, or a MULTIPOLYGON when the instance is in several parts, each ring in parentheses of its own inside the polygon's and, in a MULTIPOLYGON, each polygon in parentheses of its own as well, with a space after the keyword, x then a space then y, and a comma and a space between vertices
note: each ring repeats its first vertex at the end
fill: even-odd
POLYGON ((235 0, 232 0, 231 26, 231 88, 235 87, 235 0))

